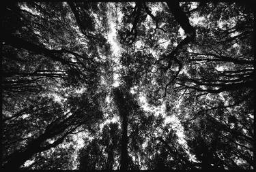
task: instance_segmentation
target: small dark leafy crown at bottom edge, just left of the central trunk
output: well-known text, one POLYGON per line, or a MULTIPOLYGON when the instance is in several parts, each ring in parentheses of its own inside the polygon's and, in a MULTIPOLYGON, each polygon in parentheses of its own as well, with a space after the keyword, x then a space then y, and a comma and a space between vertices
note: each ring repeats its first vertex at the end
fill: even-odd
POLYGON ((119 155, 120 132, 117 123, 109 123, 103 126, 98 138, 87 141, 87 145, 79 153, 79 169, 113 170, 115 159, 119 155), (106 156, 104 155, 106 154, 106 156))

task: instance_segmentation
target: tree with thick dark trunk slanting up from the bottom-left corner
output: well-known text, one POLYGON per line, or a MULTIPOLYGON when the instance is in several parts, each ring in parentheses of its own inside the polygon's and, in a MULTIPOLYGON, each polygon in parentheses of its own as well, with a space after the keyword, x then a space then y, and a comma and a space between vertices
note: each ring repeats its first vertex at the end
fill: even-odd
MULTIPOLYGON (((23 133, 25 137, 21 135, 21 140, 16 136, 19 141, 18 150, 14 150, 14 152, 8 151, 8 154, 4 158, 5 164, 3 168, 16 169, 20 167, 20 165, 23 165, 26 160, 29 160, 33 154, 54 148, 62 143, 68 135, 77 131, 79 127, 88 127, 90 124, 93 124, 94 121, 102 118, 101 111, 97 110, 97 106, 90 103, 89 99, 85 98, 85 96, 86 95, 84 95, 84 97, 70 98, 67 102, 68 110, 62 109, 60 105, 57 106, 57 109, 56 107, 51 108, 52 111, 44 111, 44 109, 41 108, 36 109, 32 113, 26 111, 27 116, 21 117, 20 120, 6 122, 3 128, 5 133, 3 138, 7 141, 14 141, 12 138, 6 138, 12 137, 12 135, 8 133, 8 129, 10 128, 15 130, 16 127, 20 128, 20 125, 24 127, 26 133, 23 133), (57 116, 55 116, 55 114, 57 114, 57 116), (35 128, 26 126, 29 124, 35 125, 35 128), (49 143, 49 139, 53 140, 53 143, 49 143), (20 141, 22 141, 21 143, 25 144, 25 146, 23 146, 20 141), (19 148, 20 146, 21 148, 19 148)), ((48 105, 53 103, 53 101, 49 100, 46 100, 46 102, 49 103, 48 105)), ((43 105, 45 105, 46 102, 44 101, 43 105)))

